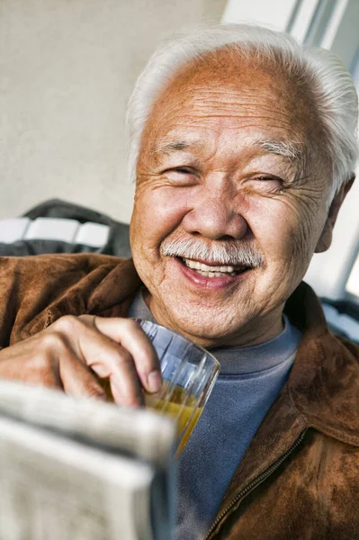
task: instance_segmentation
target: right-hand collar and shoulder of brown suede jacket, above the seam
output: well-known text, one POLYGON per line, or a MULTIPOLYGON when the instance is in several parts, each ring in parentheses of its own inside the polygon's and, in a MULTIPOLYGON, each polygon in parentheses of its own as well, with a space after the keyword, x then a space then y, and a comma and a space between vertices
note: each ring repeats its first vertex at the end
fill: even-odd
POLYGON ((286 312, 302 331, 288 396, 311 428, 359 446, 359 347, 328 329, 320 302, 302 283, 286 312))

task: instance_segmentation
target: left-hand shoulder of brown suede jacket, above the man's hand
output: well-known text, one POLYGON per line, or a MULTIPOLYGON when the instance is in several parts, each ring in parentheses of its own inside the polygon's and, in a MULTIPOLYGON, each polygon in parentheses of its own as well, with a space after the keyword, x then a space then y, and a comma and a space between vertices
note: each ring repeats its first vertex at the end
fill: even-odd
POLYGON ((98 254, 0 257, 0 332, 4 344, 66 314, 98 313, 138 286, 131 259, 98 254))

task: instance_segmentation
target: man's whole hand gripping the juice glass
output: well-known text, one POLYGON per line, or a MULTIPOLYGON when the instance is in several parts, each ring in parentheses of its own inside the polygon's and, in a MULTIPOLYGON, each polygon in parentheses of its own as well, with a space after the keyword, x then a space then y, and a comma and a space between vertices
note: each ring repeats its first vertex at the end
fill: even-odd
POLYGON ((141 387, 157 392, 162 382, 156 351, 136 321, 92 315, 67 315, 1 350, 0 377, 102 400, 98 377, 109 377, 114 401, 131 406, 142 403, 141 387))

